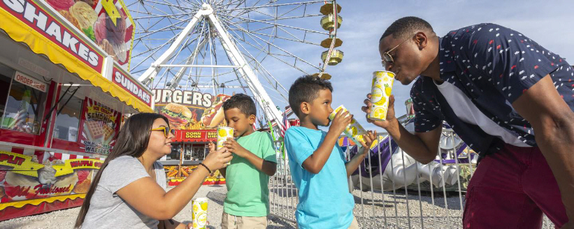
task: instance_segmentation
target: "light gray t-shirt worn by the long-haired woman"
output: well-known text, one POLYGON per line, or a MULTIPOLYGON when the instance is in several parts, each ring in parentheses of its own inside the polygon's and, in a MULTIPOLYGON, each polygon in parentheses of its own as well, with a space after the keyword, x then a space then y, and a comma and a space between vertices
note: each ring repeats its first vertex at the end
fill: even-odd
MULTIPOLYGON (((156 182, 166 189, 166 172, 161 163, 154 163, 156 182)), ((115 192, 131 182, 150 177, 137 158, 120 156, 108 163, 100 177, 82 229, 89 228, 157 228, 159 221, 131 207, 115 192)))

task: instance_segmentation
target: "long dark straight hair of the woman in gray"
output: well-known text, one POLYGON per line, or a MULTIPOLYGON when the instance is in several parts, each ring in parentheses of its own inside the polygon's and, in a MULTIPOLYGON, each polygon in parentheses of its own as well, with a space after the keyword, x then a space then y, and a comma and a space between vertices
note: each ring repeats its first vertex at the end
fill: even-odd
POLYGON ((145 149, 148 148, 150 130, 152 129, 155 119, 164 119, 166 123, 169 123, 166 117, 155 113, 134 114, 126 120, 124 126, 120 129, 120 133, 117 134, 117 140, 115 141, 112 151, 108 157, 106 157, 106 160, 103 161, 92 184, 89 185, 89 190, 86 193, 82 208, 80 208, 80 214, 78 214, 74 228, 80 228, 82 223, 84 223, 87 210, 89 209, 89 202, 92 199, 92 195, 94 195, 94 191, 96 191, 101 173, 106 169, 108 163, 120 156, 133 156, 138 158, 145 152, 145 149))

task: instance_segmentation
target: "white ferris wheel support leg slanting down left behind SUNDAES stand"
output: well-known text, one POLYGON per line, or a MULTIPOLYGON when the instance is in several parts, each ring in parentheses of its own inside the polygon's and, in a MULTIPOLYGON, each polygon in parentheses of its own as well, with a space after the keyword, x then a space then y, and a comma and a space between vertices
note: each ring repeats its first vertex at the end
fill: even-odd
POLYGON ((154 61, 152 63, 152 66, 150 66, 150 68, 148 68, 148 70, 146 70, 138 78, 138 80, 140 82, 143 82, 143 84, 150 84, 150 82, 152 82, 157 73, 159 73, 161 67, 160 65, 165 64, 166 61, 170 59, 173 56, 173 54, 175 54, 175 52, 177 52, 178 47, 182 45, 183 41, 185 40, 185 37, 188 36, 193 31, 193 29, 198 24, 199 20, 203 19, 205 15, 211 13, 213 13, 213 9, 211 7, 208 8, 203 7, 201 10, 199 10, 192 18, 192 21, 189 22, 189 24, 187 24, 185 29, 181 31, 180 35, 178 35, 178 38, 175 38, 173 43, 171 43, 171 46, 169 46, 168 50, 166 50, 166 52, 164 52, 162 56, 160 56, 156 61, 154 61))

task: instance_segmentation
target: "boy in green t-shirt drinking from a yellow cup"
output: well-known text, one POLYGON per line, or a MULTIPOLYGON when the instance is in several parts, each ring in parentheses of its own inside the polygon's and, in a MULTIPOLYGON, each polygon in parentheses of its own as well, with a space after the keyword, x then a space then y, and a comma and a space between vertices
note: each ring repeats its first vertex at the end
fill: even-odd
MULTIPOLYGON (((223 204, 223 229, 266 228, 269 214, 269 177, 277 170, 271 135, 254 131, 257 108, 250 96, 235 94, 223 103, 227 126, 234 138, 224 147, 234 153, 227 168, 220 169, 226 179, 227 197, 223 204)), ((213 142, 210 152, 215 151, 213 142)))

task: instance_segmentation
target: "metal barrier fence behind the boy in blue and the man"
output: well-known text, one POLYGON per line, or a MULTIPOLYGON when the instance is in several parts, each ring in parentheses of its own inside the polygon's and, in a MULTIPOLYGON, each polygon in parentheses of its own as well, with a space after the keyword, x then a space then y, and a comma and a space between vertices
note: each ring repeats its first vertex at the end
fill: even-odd
MULTIPOLYGON (((464 143, 457 146, 456 135, 447 130, 441 145, 448 148, 450 142, 452 149, 439 145, 436 160, 422 165, 387 137, 378 136, 377 147, 349 177, 353 213, 361 228, 462 228, 464 195, 478 155, 464 149, 464 143)), ((294 224, 297 189, 281 142, 275 146, 278 170, 269 182, 271 216, 294 224)), ((354 155, 352 147, 343 148, 347 159, 354 155)), ((543 228, 554 228, 547 217, 543 228)))

